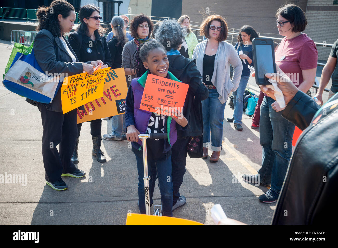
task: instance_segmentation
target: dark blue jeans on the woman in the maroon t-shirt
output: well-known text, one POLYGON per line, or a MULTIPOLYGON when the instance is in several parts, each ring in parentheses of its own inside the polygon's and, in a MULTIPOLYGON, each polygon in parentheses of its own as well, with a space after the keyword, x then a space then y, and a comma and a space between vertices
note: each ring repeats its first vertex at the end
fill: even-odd
POLYGON ((283 118, 282 111, 272 109, 273 102, 275 100, 265 96, 261 105, 259 125, 263 159, 258 174, 261 183, 271 183, 271 189, 280 193, 292 155, 295 125, 283 118))

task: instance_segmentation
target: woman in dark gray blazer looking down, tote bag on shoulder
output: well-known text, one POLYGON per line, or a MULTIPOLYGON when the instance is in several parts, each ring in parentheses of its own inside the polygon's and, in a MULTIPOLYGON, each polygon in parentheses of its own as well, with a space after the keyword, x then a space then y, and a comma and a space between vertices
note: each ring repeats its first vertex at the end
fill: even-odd
MULTIPOLYGON (((74 7, 64 0, 53 1, 50 6, 37 11, 39 31, 34 39, 34 55, 41 69, 48 74, 65 77, 82 73, 92 74, 100 61, 88 63, 78 59, 64 37, 70 32, 76 18, 74 7)), ((63 114, 61 105, 61 85, 50 104, 27 101, 38 106, 41 112, 42 158, 46 171, 47 185, 54 190, 66 190, 68 186, 61 176, 83 177, 86 173, 71 162, 77 137, 76 109, 63 114), (56 146, 59 145, 59 150, 56 146)), ((82 106, 83 107, 83 106, 82 106)))

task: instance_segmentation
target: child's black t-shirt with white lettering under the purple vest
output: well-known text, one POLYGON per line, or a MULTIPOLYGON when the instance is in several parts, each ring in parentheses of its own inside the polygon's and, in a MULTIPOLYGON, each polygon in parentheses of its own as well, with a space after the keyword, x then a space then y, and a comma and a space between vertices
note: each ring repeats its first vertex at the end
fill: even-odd
MULTIPOLYGON (((156 113, 151 113, 147 134, 156 134, 156 133, 165 133, 165 125, 166 125, 166 116, 165 115, 157 115, 156 113)), ((165 139, 147 139, 147 159, 148 162, 161 161, 166 159, 166 154, 164 153, 164 145, 165 139)), ((134 149, 134 153, 137 153, 140 157, 143 154, 143 151, 139 151, 134 149)), ((171 154, 171 150, 167 152, 167 156, 169 157, 171 154)))

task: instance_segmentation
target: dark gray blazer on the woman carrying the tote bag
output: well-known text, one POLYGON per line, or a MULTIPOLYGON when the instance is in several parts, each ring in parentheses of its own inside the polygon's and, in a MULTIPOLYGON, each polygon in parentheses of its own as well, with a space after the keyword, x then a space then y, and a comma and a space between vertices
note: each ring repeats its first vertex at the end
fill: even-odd
MULTIPOLYGON (((76 61, 79 61, 67 39, 65 37, 64 39, 70 51, 74 54, 76 61)), ((73 60, 62 44, 60 38, 56 35, 53 36, 53 34, 47 29, 42 29, 37 33, 34 39, 33 49, 35 59, 44 72, 52 74, 62 73, 62 77, 72 76, 83 72, 81 62, 68 62, 73 60)), ((35 106, 44 105, 50 111, 62 113, 61 86, 51 103, 39 103, 30 99, 26 99, 26 101, 35 106)), ((83 106, 81 107, 82 108, 79 109, 84 109, 83 106)))

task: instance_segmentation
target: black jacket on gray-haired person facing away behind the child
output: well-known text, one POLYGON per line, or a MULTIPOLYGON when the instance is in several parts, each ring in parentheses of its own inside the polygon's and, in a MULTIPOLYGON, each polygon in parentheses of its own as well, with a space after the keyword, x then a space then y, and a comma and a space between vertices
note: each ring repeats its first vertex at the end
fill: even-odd
POLYGON ((203 133, 203 117, 202 104, 200 101, 208 98, 209 90, 202 84, 202 76, 196 64, 191 59, 185 58, 181 54, 175 54, 168 55, 168 60, 168 71, 178 80, 189 84, 183 108, 183 115, 188 120, 188 128, 185 131, 177 130, 177 136, 178 138, 201 136, 203 133), (195 95, 197 94, 200 99, 195 99, 195 95))

